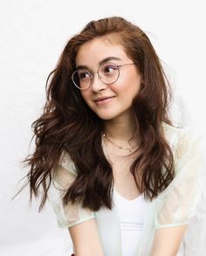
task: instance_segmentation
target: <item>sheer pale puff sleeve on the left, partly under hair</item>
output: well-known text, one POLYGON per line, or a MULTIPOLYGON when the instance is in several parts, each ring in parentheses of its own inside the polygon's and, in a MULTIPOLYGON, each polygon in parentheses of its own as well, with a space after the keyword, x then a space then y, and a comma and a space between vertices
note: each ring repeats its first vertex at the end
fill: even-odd
POLYGON ((56 213, 59 227, 72 227, 88 219, 95 218, 93 211, 83 209, 81 204, 63 205, 62 198, 65 190, 77 176, 75 166, 68 154, 63 154, 54 170, 52 184, 49 190, 49 201, 56 213))

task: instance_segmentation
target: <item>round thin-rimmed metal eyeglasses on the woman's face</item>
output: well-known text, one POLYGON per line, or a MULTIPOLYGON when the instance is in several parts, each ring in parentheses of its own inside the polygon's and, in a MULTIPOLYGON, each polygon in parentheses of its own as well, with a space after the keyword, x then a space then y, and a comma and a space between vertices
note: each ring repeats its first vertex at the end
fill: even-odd
POLYGON ((98 73, 100 80, 106 85, 113 84, 120 77, 120 66, 134 65, 127 63, 116 65, 111 62, 101 64, 96 72, 89 72, 86 69, 79 69, 72 73, 74 86, 79 90, 87 90, 93 84, 93 74, 98 73))

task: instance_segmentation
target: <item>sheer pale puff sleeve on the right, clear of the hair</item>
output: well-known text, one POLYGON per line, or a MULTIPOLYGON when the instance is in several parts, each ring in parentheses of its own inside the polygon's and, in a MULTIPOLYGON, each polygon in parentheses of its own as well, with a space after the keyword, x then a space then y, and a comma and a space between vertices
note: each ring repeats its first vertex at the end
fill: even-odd
POLYGON ((196 204, 201 196, 201 138, 191 128, 180 128, 175 137, 175 179, 156 198, 155 228, 187 224, 195 215, 196 204))

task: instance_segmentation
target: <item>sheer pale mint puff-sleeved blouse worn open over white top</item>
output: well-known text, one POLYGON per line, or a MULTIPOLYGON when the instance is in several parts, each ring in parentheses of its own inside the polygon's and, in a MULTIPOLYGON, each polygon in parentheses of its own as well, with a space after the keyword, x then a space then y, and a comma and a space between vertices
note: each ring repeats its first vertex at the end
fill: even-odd
MULTIPOLYGON (((203 155, 200 136, 192 128, 173 128, 163 124, 165 137, 171 146, 175 159, 175 178, 168 188, 152 202, 146 201, 146 215, 141 240, 136 256, 150 253, 156 229, 188 224, 195 215, 196 204, 202 191, 201 171, 203 155)), ((65 188, 75 179, 76 171, 67 154, 61 157, 49 199, 58 218, 60 227, 71 227, 91 218, 96 218, 99 235, 106 256, 121 256, 120 222, 117 205, 113 210, 89 211, 80 204, 62 204, 65 188)))

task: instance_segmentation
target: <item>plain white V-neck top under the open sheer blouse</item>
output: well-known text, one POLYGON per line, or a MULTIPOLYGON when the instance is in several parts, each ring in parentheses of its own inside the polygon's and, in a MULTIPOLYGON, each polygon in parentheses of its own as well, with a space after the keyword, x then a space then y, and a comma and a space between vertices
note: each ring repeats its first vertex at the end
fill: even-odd
POLYGON ((127 200, 113 189, 114 204, 117 204, 120 217, 122 256, 134 256, 143 230, 144 197, 127 200))

